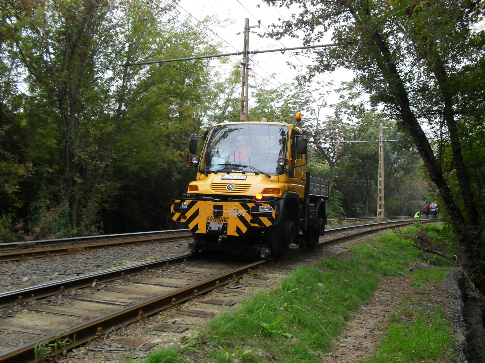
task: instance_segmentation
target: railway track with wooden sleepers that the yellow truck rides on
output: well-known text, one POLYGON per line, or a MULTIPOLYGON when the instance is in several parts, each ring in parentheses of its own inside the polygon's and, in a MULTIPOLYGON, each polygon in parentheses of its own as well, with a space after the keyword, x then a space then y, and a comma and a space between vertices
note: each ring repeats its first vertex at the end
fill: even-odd
MULTIPOLYGON (((340 234, 344 230, 359 227, 367 230, 326 241, 322 241, 323 237, 320 243, 330 243, 411 223, 414 221, 388 222, 385 226, 381 225, 377 228, 372 224, 374 227, 372 229, 369 228, 370 225, 334 228, 329 232, 340 234)), ((298 251, 301 250, 294 249, 290 254, 298 251)), ((103 339, 110 330, 133 321, 143 321, 147 316, 171 306, 177 307, 178 304, 189 299, 198 299, 205 292, 222 289, 224 285, 274 262, 274 259, 270 258, 242 265, 241 263, 208 262, 197 258, 193 254, 164 258, 1 293, 0 306, 16 303, 22 306, 25 313, 17 314, 10 319, 1 319, 0 329, 9 331, 12 339, 24 340, 27 339, 25 336, 30 336, 28 339, 32 339, 32 334, 40 337, 0 353, 0 362, 35 362, 36 355, 39 358, 39 355, 46 352, 48 347, 55 347, 57 351, 49 351, 49 354, 55 356, 63 350, 74 348, 89 340, 103 339), (132 278, 135 274, 139 276, 132 278), (108 281, 112 282, 110 286, 103 285, 108 281), (48 296, 50 296, 50 302, 49 300, 35 301, 48 296), (57 307, 52 307, 51 302, 55 302, 57 307)), ((232 290, 229 292, 237 296, 238 290, 232 290)), ((237 298, 212 300, 206 303, 228 306, 238 301, 237 298)), ((184 311, 184 309, 179 309, 178 314, 192 316, 195 314, 202 318, 211 315, 204 310, 184 311)), ((185 326, 167 323, 157 327, 162 331, 170 332, 184 328, 185 326)), ((9 343, 12 342, 5 338, 2 343, 3 349, 9 343)), ((128 343, 125 341, 120 344, 129 346, 128 343)), ((131 342, 131 346, 136 343, 131 342)), ((143 344, 143 346, 150 348, 149 344, 143 344)))

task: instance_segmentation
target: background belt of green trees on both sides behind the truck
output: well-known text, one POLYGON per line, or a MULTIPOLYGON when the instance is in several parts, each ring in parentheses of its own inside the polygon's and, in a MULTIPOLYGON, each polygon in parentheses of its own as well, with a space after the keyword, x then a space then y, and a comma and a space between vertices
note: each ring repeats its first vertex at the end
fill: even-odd
MULTIPOLYGON (((121 66, 215 52, 200 29, 174 20, 175 3, 1 6, 1 241, 182 227, 169 209, 194 178, 187 140, 239 120, 240 69, 225 74, 207 60, 121 66)), ((333 185, 329 218, 375 215, 377 144, 328 141, 376 140, 380 122, 400 140, 385 147, 387 214, 414 214, 433 196, 416 147, 392 115, 359 101, 358 85, 343 85, 335 105, 318 84, 251 86, 250 120, 304 113, 309 168, 333 185)))

